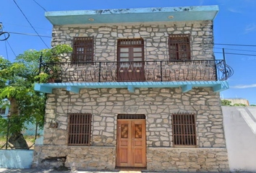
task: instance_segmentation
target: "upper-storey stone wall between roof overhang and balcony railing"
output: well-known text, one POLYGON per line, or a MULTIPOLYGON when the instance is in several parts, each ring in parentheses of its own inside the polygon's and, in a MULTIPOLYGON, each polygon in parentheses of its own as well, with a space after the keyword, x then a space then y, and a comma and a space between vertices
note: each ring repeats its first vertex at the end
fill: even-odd
MULTIPOLYGON (((189 34, 192 59, 213 59, 213 22, 154 22, 109 25, 55 25, 52 46, 72 45, 73 37, 95 37, 94 61, 117 61, 116 44, 121 38, 145 41, 145 61, 168 60, 168 35, 189 34)), ((62 61, 70 61, 64 55, 62 61)))

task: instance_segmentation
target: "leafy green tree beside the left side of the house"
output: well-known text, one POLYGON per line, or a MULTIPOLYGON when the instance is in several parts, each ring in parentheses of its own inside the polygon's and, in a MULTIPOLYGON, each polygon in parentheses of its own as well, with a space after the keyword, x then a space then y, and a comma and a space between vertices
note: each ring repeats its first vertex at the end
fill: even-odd
MULTIPOLYGON (((68 45, 57 45, 52 49, 27 50, 17 56, 14 63, 0 57, 0 104, 10 106, 9 143, 14 148, 27 149, 27 143, 22 136, 25 123, 38 123, 43 126, 45 115, 46 95, 34 91, 34 84, 38 78, 39 58, 42 62, 59 61, 62 53, 71 53, 68 45), (6 101, 9 102, 6 102, 6 101)), ((0 133, 7 130, 7 120, 0 118, 0 133)))

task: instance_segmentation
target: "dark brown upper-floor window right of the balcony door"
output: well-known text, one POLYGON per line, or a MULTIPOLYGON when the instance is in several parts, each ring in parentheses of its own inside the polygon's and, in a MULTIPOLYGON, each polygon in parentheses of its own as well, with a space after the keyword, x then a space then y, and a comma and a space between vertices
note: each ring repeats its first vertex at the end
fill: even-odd
POLYGON ((190 60, 189 35, 169 35, 170 60, 190 60))

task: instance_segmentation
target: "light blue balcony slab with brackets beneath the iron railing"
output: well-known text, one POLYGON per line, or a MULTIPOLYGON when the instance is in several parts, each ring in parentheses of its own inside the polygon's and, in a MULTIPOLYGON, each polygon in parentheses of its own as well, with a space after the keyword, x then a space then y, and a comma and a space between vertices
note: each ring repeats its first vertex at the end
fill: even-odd
POLYGON ((129 92, 135 92, 136 88, 182 88, 182 92, 188 92, 192 87, 212 87, 213 92, 221 92, 229 89, 227 81, 127 81, 127 82, 84 82, 84 83, 54 83, 35 84, 35 91, 52 93, 54 88, 64 88, 69 92, 79 93, 80 89, 98 88, 127 88, 129 92))

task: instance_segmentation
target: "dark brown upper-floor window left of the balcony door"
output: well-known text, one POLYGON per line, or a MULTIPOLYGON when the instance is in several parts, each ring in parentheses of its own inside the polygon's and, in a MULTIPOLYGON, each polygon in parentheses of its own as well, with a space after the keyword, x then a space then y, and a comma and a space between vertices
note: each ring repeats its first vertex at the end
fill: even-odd
POLYGON ((74 37, 72 62, 93 62, 93 37, 74 37))

